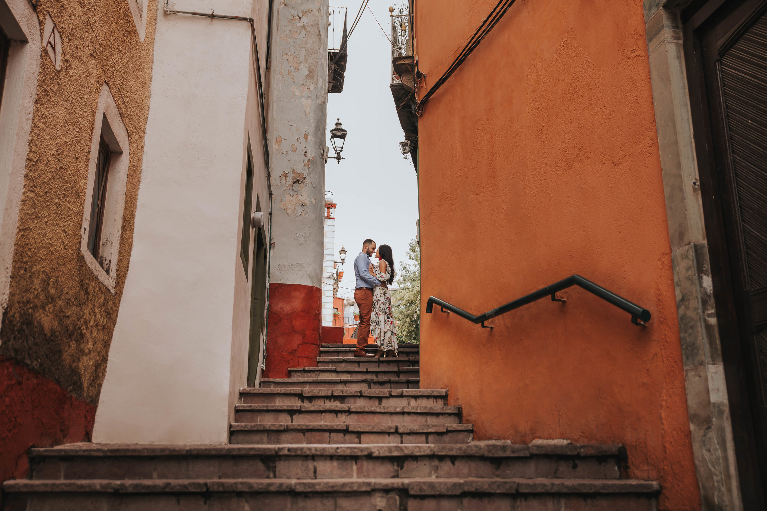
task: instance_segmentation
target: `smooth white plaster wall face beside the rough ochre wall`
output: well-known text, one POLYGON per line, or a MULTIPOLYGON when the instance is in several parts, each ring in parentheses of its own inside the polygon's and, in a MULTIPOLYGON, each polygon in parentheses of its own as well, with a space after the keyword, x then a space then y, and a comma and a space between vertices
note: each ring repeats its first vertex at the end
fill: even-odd
MULTIPOLYGON (((93 439, 225 443, 250 26, 159 3, 133 252, 93 439)), ((249 15, 242 3, 206 7, 249 15)))

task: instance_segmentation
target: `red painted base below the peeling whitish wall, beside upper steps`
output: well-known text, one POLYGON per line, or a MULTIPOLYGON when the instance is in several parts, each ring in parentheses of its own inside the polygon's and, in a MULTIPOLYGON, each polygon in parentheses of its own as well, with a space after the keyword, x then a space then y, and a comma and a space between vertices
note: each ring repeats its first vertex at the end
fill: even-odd
POLYGON ((263 377, 287 378, 288 368, 317 367, 321 308, 320 288, 269 284, 269 331, 263 377))

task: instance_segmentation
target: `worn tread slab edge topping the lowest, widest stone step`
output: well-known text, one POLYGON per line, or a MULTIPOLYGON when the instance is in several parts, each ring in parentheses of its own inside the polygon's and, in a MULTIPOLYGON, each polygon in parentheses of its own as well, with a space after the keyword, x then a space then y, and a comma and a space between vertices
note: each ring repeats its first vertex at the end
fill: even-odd
POLYGON ((7 493, 221 493, 221 492, 370 492, 407 490, 411 495, 462 493, 632 493, 655 496, 660 483, 602 479, 194 479, 194 480, 9 480, 7 493))

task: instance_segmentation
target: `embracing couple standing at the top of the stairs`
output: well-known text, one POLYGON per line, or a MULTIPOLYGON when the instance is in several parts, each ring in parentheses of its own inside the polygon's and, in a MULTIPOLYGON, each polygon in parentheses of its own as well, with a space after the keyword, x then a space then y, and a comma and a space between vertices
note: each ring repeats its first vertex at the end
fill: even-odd
POLYGON ((357 349, 355 357, 396 357, 397 328, 394 326, 394 313, 391 308, 389 286, 394 282, 394 261, 391 247, 381 245, 376 249, 376 242, 366 239, 362 243, 362 252, 354 259, 354 302, 360 308, 360 325, 357 326, 357 349), (375 253, 378 264, 370 262, 370 255, 375 253), (365 353, 367 338, 370 333, 378 345, 377 354, 365 353))

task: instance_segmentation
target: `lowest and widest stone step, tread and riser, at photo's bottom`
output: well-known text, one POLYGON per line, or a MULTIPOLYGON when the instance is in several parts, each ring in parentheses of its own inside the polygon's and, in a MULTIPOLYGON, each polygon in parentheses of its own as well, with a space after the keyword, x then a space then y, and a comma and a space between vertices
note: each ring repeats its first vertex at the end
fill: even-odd
POLYGON ((8 511, 651 511, 660 485, 640 480, 474 478, 12 480, 3 490, 8 511))

